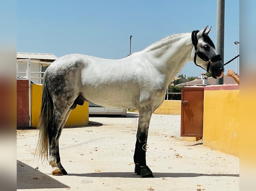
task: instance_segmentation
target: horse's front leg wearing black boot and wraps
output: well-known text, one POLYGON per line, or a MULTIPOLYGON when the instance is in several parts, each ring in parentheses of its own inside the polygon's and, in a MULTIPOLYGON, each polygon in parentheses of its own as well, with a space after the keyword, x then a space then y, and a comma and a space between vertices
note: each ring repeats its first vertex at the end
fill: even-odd
POLYGON ((137 140, 133 156, 135 163, 134 171, 142 177, 153 177, 152 171, 146 165, 148 127, 152 112, 151 110, 140 110, 139 112, 139 124, 136 135, 137 140))

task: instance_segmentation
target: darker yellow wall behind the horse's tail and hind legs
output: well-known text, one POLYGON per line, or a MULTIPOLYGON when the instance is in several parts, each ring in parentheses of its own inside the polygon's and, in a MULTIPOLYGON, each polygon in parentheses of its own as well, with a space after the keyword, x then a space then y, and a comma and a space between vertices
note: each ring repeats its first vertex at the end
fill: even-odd
MULTIPOLYGON (((38 118, 40 115, 42 100, 42 85, 31 84, 31 125, 37 127, 38 118)), ((84 105, 77 105, 70 113, 70 116, 65 124, 67 126, 83 126, 89 122, 89 103, 84 102, 84 105)))

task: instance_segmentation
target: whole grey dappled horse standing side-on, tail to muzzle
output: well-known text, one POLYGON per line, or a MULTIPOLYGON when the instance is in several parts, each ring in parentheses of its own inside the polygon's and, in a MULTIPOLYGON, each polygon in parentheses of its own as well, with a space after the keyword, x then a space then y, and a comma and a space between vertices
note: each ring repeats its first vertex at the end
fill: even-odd
POLYGON ((59 137, 71 110, 90 101, 105 107, 139 111, 135 173, 153 177, 146 165, 148 127, 152 112, 164 101, 169 83, 188 61, 194 61, 213 78, 223 76, 223 63, 208 36, 211 28, 207 30, 207 27, 168 36, 123 59, 70 54, 55 60, 43 77, 36 148, 41 159, 49 160, 52 174, 67 174, 60 163, 59 137))

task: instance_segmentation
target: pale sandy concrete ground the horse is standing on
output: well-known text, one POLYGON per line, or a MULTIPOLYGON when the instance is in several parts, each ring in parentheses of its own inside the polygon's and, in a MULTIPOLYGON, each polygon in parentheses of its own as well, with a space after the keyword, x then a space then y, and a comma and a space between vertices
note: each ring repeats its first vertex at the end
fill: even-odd
POLYGON ((37 130, 18 129, 17 190, 239 190, 239 158, 207 148, 202 140, 180 140, 180 115, 152 115, 146 159, 154 178, 134 173, 137 113, 89 120, 88 126, 62 131, 65 176, 52 176, 48 163, 34 160, 37 130))

